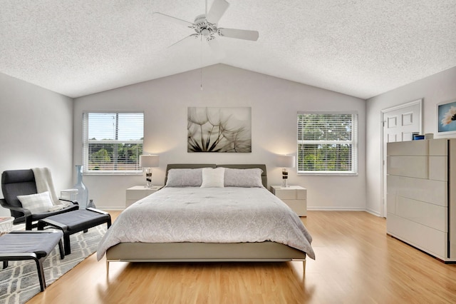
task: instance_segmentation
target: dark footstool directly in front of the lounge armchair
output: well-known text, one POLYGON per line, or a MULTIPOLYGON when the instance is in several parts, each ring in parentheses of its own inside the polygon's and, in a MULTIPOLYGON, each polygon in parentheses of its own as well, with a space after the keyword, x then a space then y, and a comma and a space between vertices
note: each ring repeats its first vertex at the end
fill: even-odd
POLYGON ((46 226, 62 230, 63 247, 65 248, 65 255, 68 255, 71 253, 70 235, 83 230, 87 232, 88 228, 103 223, 106 223, 108 228, 111 226, 109 213, 95 208, 86 208, 43 218, 38 221, 38 230, 43 230, 46 226))

